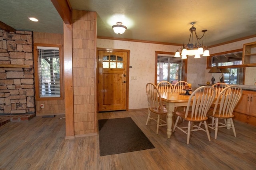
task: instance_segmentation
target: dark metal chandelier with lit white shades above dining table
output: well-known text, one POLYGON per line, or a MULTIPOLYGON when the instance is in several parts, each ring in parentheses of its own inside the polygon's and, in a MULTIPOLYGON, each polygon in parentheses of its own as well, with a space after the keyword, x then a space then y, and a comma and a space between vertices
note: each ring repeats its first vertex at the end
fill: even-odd
MULTIPOLYGON (((189 56, 195 56, 195 59, 201 58, 200 55, 203 56, 210 56, 209 53, 209 49, 206 47, 206 49, 204 50, 204 46, 201 45, 200 43, 200 39, 202 39, 202 37, 204 37, 204 34, 202 35, 202 37, 198 38, 198 35, 196 34, 196 27, 194 27, 194 22, 192 22, 192 27, 189 29, 190 31, 190 37, 188 40, 188 44, 184 45, 183 43, 183 47, 178 48, 182 50, 182 57, 181 59, 187 59, 187 55, 189 56), (196 43, 195 45, 193 44, 193 33, 195 34, 194 36, 196 37, 196 43), (191 40, 191 41, 190 41, 191 40)), ((207 29, 202 30, 203 33, 205 33, 207 31, 207 29)), ((174 57, 180 57, 180 51, 177 49, 174 57)))

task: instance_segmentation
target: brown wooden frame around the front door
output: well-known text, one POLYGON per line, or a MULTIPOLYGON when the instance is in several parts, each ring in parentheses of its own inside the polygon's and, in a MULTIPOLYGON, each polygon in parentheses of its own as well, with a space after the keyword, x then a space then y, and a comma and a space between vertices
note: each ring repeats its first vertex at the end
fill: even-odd
POLYGON ((124 49, 109 49, 109 48, 98 48, 97 47, 97 69, 96 69, 96 84, 97 84, 97 113, 99 112, 99 98, 98 98, 98 89, 99 89, 99 51, 116 51, 116 52, 126 52, 127 60, 126 60, 126 111, 129 110, 129 68, 130 68, 130 50, 124 49))

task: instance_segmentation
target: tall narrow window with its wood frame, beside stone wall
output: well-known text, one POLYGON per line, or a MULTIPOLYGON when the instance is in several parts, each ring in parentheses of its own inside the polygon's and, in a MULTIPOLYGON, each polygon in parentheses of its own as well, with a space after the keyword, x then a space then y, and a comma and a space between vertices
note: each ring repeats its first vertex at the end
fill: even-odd
POLYGON ((62 97, 61 47, 35 46, 36 98, 62 97))

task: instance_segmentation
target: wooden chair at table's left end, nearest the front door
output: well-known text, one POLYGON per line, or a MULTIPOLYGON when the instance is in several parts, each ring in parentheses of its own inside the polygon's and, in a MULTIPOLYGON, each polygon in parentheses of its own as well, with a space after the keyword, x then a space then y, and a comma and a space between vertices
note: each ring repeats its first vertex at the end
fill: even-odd
POLYGON ((150 120, 156 121, 156 134, 158 134, 159 126, 167 126, 167 122, 160 118, 160 115, 166 115, 166 107, 162 105, 161 94, 156 85, 152 83, 146 84, 146 93, 148 96, 148 118, 146 125, 150 120), (155 113, 156 117, 151 117, 151 113, 155 113))

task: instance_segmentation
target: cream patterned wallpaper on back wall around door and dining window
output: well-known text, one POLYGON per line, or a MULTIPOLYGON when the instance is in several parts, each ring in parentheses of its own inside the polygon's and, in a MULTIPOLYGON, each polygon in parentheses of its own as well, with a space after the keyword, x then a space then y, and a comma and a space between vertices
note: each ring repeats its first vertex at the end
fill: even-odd
MULTIPOLYGON (((97 39, 97 47, 130 50, 130 76, 129 76, 129 109, 144 109, 148 107, 146 84, 154 83, 155 51, 175 52, 177 46, 160 45, 152 43, 139 43, 131 41, 118 41, 97 39), (136 76, 136 80, 131 80, 136 76)), ((205 77, 206 58, 188 59, 187 81, 192 88, 202 84, 205 77)))

